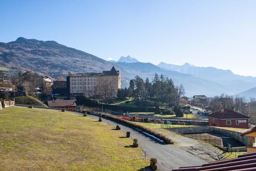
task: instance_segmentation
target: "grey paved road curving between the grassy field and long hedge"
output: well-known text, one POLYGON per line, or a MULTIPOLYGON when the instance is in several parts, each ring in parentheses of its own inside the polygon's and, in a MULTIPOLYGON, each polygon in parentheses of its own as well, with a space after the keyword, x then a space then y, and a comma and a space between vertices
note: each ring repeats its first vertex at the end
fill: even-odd
MULTIPOLYGON (((99 119, 97 116, 90 115, 90 117, 99 119)), ((116 123, 105 118, 102 118, 102 121, 114 127, 116 126, 116 123)), ((206 163, 206 161, 193 156, 193 154, 178 148, 177 145, 164 144, 143 132, 138 132, 122 124, 118 125, 121 126, 121 131, 124 133, 127 131, 131 132, 131 139, 138 139, 141 150, 145 152, 146 149, 147 158, 157 158, 157 168, 160 171, 172 170, 182 166, 202 165, 206 163)))

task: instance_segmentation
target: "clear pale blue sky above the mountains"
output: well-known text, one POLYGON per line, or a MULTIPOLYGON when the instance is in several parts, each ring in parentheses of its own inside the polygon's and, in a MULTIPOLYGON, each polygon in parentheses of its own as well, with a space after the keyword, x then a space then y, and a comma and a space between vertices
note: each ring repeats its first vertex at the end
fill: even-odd
POLYGON ((130 55, 256 77, 256 1, 0 0, 0 42, 55 40, 99 58, 130 55))

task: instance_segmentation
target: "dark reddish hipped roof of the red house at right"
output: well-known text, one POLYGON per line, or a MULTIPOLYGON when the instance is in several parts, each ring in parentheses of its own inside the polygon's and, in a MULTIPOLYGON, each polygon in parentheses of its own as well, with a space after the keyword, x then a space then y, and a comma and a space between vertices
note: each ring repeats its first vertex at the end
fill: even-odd
POLYGON ((217 119, 249 119, 250 118, 230 109, 222 109, 218 112, 214 112, 210 114, 209 117, 217 118, 217 119))

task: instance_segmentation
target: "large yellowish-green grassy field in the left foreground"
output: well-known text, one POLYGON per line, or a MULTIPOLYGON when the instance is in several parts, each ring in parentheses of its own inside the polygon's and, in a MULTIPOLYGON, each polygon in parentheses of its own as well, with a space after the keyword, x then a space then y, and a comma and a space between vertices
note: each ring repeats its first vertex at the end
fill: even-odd
POLYGON ((131 139, 69 112, 9 107, 0 111, 1 170, 144 170, 131 139))

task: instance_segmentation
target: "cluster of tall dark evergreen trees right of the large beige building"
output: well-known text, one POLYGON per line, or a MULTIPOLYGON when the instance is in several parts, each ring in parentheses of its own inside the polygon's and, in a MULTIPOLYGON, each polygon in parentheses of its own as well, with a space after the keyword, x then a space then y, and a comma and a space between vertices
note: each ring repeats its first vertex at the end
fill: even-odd
POLYGON ((118 90, 117 97, 132 97, 139 102, 153 101, 155 106, 162 104, 173 107, 179 106, 184 94, 185 88, 182 85, 175 86, 172 79, 155 73, 151 82, 148 77, 143 80, 140 76, 135 76, 130 80, 128 88, 118 90))

